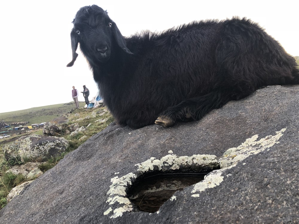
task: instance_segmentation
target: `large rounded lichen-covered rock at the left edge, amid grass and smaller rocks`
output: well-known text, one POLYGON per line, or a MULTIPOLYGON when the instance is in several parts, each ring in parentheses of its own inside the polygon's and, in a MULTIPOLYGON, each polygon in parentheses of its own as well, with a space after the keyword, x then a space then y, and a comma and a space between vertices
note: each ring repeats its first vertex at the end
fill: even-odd
POLYGON ((4 157, 9 165, 18 165, 24 160, 43 161, 57 156, 68 148, 68 141, 54 136, 29 135, 3 147, 4 157))

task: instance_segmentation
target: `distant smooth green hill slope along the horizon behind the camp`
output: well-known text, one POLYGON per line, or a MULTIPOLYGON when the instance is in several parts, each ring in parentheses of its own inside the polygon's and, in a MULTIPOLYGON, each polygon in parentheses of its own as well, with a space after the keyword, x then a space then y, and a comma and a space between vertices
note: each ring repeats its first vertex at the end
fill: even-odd
MULTIPOLYGON (((85 102, 79 102, 80 107, 84 107, 84 105, 85 102)), ((26 110, 0 113, 0 120, 8 125, 13 122, 23 121, 28 121, 29 123, 27 125, 39 124, 51 121, 61 114, 69 113, 74 108, 74 102, 34 107, 26 110)))

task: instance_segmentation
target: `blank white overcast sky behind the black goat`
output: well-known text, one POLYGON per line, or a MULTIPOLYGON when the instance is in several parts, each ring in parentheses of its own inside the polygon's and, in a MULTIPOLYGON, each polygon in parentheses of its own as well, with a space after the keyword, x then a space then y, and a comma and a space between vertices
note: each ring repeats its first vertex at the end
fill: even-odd
MULTIPOLYGON (((80 7, 91 4, 107 10, 123 36, 193 20, 247 17, 289 54, 299 55, 298 0, 1 0, 0 112, 71 102, 73 85, 79 92, 86 85, 90 100, 96 95, 97 85, 79 50, 74 66, 66 67, 72 59, 71 22, 80 7)), ((79 101, 84 101, 82 93, 79 101)))

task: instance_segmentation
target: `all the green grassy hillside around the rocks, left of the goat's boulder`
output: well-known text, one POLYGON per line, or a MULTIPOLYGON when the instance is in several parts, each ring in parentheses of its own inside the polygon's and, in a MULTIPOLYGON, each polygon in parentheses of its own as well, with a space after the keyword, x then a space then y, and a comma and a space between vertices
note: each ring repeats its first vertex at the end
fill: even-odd
MULTIPOLYGON (((60 116, 61 114, 64 114, 68 119, 67 123, 59 125, 61 127, 59 137, 65 138, 69 143, 69 147, 64 153, 57 157, 27 159, 26 161, 24 159, 24 162, 22 163, 44 161, 45 163, 42 163, 39 166, 39 169, 42 172, 45 172, 48 169, 53 168, 66 154, 78 148, 87 139, 105 129, 113 121, 112 115, 105 107, 85 109, 83 108, 85 105, 84 102, 79 102, 79 105, 80 109, 76 110, 74 110, 73 103, 67 103, 1 114, 1 119, 3 119, 6 123, 22 122, 25 120, 29 121, 29 124, 47 122, 51 121, 53 118, 57 118, 57 116, 60 116), (69 126, 74 123, 77 123, 79 127, 86 127, 86 130, 71 136, 69 126), (85 136, 85 138, 82 139, 83 136, 85 136)), ((7 204, 6 197, 13 187, 30 180, 26 179, 22 174, 14 175, 12 173, 6 173, 7 169, 9 169, 12 164, 5 160, 2 146, 11 144, 16 139, 24 135, 42 135, 42 128, 30 132, 24 131, 23 133, 19 133, 19 131, 17 131, 17 133, 11 133, 12 132, 8 133, 11 135, 10 137, 0 140, 0 209, 7 204)), ((33 179, 35 178, 36 177, 33 177, 33 179)))

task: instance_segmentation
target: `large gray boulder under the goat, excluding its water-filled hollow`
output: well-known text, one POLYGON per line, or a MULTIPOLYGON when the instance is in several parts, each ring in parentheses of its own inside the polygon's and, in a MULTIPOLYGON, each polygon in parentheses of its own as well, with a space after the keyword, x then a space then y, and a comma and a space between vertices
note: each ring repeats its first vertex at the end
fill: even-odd
POLYGON ((11 200, 0 223, 298 223, 298 111, 298 85, 271 86, 197 122, 109 125, 11 200), (220 169, 158 212, 126 195, 144 174, 207 167, 220 169))

